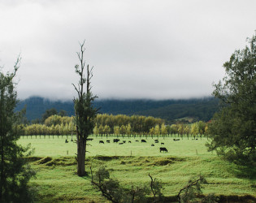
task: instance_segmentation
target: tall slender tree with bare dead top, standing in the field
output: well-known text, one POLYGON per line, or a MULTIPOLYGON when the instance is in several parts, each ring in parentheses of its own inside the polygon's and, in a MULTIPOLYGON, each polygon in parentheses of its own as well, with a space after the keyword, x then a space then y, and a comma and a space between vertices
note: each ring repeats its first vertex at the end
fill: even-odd
POLYGON ((73 84, 76 89, 77 98, 74 98, 75 122, 76 122, 76 143, 77 143, 77 175, 85 176, 85 154, 87 139, 93 133, 94 119, 98 109, 93 108, 93 101, 96 96, 91 92, 91 79, 93 77, 93 67, 85 64, 85 41, 80 44, 80 52, 77 56, 80 65, 76 65, 76 73, 79 75, 79 83, 73 84))

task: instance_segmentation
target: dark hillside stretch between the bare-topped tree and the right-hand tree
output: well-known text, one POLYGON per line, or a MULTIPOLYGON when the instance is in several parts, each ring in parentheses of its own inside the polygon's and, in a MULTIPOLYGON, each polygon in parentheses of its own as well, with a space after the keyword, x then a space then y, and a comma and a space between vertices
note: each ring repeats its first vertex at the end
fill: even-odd
POLYGON ((218 110, 214 97, 187 100, 102 100, 95 103, 106 114, 151 115, 171 121, 184 117, 208 121, 218 110))

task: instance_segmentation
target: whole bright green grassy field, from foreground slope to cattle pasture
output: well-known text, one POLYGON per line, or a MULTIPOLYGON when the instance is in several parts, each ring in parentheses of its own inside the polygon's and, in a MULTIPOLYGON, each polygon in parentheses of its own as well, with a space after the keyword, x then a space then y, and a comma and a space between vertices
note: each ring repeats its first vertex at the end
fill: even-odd
MULTIPOLYGON (((143 138, 145 139, 145 138, 143 138)), ((113 143, 113 137, 106 139, 93 137, 88 147, 89 155, 86 171, 93 166, 96 171, 99 166, 106 166, 111 171, 111 177, 119 179, 124 187, 150 184, 148 174, 163 182, 163 194, 174 197, 193 176, 204 175, 208 184, 203 185, 203 193, 214 192, 216 195, 254 196, 256 194, 255 170, 245 171, 232 163, 223 161, 215 153, 206 150, 206 139, 173 141, 173 138, 146 139, 146 143, 136 142, 137 139, 126 140, 124 145, 113 143), (105 144, 99 144, 103 140, 105 144), (106 143, 111 140, 111 143, 106 143), (128 143, 131 140, 132 143, 128 143), (163 142, 164 145, 160 143, 163 142), (155 146, 151 146, 154 144, 155 146), (159 147, 164 146, 168 153, 160 153, 159 147)), ((31 143, 35 153, 31 159, 33 168, 37 171, 37 179, 31 184, 37 186, 40 202, 52 201, 85 201, 105 202, 106 200, 90 184, 90 176, 85 178, 76 175, 76 144, 71 137, 46 138, 35 136, 21 138, 20 145, 31 143), (65 143, 65 140, 68 143, 65 143)), ((254 201, 251 201, 254 202, 254 201)))

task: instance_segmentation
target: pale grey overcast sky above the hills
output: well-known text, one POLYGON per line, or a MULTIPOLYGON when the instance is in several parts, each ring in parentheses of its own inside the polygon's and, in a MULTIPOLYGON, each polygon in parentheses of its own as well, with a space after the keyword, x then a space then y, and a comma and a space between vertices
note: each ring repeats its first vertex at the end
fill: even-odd
POLYGON ((72 99, 79 41, 99 98, 210 96, 256 29, 255 0, 0 0, 0 66, 18 97, 72 99))

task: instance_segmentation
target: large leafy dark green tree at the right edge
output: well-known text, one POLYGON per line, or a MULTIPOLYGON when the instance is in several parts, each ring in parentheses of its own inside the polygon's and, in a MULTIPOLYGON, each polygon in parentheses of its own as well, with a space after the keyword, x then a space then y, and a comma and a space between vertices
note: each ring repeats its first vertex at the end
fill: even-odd
POLYGON ((256 159, 256 35, 223 64, 226 75, 215 84, 223 108, 210 123, 209 150, 231 161, 254 164, 256 159))

